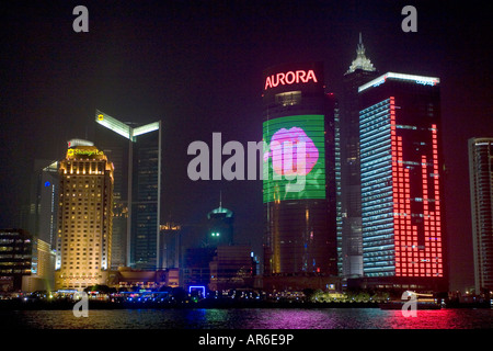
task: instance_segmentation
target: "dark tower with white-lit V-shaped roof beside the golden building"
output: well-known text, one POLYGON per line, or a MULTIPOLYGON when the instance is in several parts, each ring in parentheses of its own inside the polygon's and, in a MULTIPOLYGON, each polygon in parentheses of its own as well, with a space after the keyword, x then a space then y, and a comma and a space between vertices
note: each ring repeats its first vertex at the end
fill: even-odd
MULTIPOLYGON (((126 265, 159 269, 161 204, 161 121, 130 126, 101 111, 95 121, 128 139, 126 265), (151 132, 158 133, 151 133, 151 132)), ((123 190, 122 190, 123 193, 123 190)), ((123 199, 123 197, 121 197, 123 199)), ((121 206, 125 201, 121 201, 121 206)))

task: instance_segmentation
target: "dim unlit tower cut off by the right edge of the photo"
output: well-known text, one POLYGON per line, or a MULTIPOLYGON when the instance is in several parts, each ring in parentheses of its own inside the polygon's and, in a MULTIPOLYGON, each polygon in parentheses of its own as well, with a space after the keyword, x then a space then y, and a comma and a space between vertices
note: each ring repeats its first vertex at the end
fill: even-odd
POLYGON ((493 137, 469 139, 475 293, 493 290, 493 137))

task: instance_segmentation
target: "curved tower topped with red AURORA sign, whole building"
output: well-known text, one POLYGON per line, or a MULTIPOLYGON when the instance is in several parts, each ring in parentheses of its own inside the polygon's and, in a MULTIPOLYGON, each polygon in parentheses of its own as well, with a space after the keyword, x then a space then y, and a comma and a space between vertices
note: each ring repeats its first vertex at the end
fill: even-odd
POLYGON ((336 103, 323 64, 275 66, 264 81, 264 275, 336 274, 336 103))

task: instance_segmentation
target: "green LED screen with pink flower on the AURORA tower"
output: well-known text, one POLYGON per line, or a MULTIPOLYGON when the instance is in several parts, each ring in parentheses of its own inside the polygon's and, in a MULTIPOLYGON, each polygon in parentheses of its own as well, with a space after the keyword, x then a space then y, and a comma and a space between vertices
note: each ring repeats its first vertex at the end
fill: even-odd
MULTIPOLYGON (((264 203, 325 199, 324 139, 323 115, 286 116, 263 123, 264 203), (305 147, 301 148, 305 154, 302 167, 297 163, 298 151, 295 147, 300 141, 305 147), (285 145, 294 145, 294 147, 290 149, 284 147, 285 145), (287 157, 287 152, 290 152, 290 156, 287 157), (289 163, 286 160, 290 160, 289 163)), ((300 155, 302 155, 301 151, 300 155)))

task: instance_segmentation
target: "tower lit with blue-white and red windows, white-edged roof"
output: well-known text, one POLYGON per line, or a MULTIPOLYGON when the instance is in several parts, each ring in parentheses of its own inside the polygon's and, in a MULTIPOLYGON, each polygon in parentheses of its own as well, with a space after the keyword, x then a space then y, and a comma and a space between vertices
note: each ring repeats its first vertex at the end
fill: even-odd
POLYGON ((387 72, 358 91, 364 274, 447 290, 439 79, 387 72))

